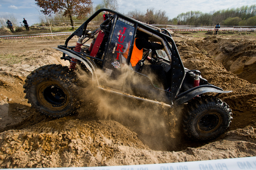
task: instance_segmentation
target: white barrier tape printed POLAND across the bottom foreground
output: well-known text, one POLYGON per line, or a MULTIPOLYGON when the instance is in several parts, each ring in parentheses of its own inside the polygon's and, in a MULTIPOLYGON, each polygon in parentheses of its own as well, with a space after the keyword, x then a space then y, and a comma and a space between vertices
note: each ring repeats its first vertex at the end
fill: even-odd
MULTIPOLYGON (((29 168, 34 170, 241 170, 256 169, 256 157, 242 157, 193 162, 160 163, 126 166, 69 167, 69 168, 29 168)), ((11 169, 5 169, 11 170, 11 169)), ((12 170, 28 170, 12 169, 12 170)))

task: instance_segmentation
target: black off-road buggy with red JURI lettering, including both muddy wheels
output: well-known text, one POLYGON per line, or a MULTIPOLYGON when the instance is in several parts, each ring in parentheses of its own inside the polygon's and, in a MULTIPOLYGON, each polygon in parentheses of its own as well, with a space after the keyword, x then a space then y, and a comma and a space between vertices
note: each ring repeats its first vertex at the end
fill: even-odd
POLYGON ((214 139, 231 123, 231 109, 216 97, 231 91, 209 84, 198 70, 184 68, 172 35, 166 29, 152 27, 113 10, 100 9, 66 39, 65 45, 55 49, 63 52, 61 59, 68 60, 70 66, 51 64, 37 68, 27 76, 23 86, 28 103, 44 115, 60 118, 75 113, 82 105, 76 88, 94 86, 171 108, 185 105, 181 112, 183 129, 188 137, 196 140, 214 139), (102 17, 104 11, 112 15, 95 29, 95 18, 102 17), (162 44, 163 49, 147 49, 132 67, 131 53, 137 33, 144 33, 149 41, 162 44), (75 35, 79 37, 76 45, 68 46, 75 35), (149 75, 142 74, 139 70, 146 64, 162 66, 166 84, 161 86, 149 75), (99 69, 106 79, 116 83, 98 79, 96 70, 99 69), (79 80, 76 74, 79 70, 89 75, 87 82, 79 80))

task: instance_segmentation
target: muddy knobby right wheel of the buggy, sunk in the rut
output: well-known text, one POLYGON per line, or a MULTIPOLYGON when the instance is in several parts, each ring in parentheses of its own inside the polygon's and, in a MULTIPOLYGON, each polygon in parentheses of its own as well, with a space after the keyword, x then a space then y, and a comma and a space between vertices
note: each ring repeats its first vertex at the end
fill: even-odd
POLYGON ((213 96, 192 99, 185 109, 183 129, 195 140, 212 140, 222 135, 231 123, 232 111, 222 100, 213 96))

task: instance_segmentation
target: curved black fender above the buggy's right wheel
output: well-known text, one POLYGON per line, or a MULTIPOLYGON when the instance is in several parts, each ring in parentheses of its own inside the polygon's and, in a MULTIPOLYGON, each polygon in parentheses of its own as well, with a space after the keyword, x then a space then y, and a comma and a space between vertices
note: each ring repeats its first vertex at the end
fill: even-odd
POLYGON ((213 86, 213 85, 201 85, 201 86, 197 86, 194 87, 192 89, 189 89, 179 95, 176 96, 176 98, 174 99, 174 105, 178 106, 182 103, 185 103, 187 101, 189 101, 190 99, 201 95, 203 93, 207 93, 207 92, 212 92, 212 93, 229 93, 229 92, 233 92, 233 91, 224 91, 223 89, 213 86))

